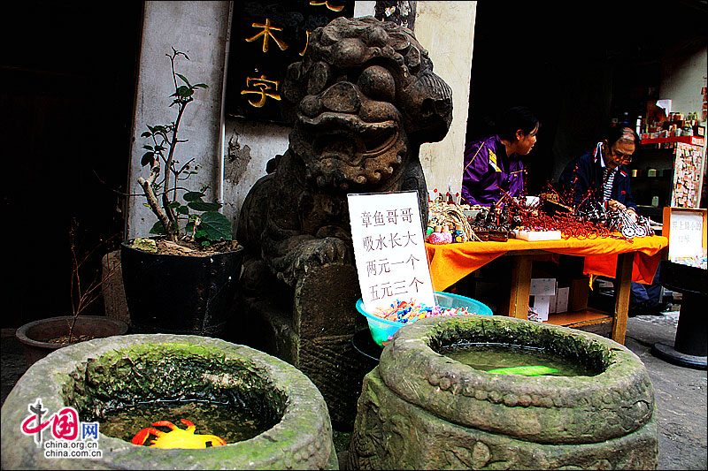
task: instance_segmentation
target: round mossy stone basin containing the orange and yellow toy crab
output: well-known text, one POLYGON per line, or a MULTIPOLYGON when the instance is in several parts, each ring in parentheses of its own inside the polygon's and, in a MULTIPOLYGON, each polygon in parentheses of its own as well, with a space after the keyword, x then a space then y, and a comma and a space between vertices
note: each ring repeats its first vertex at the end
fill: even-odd
MULTIPOLYGON (((52 438, 50 429, 45 441, 52 438)), ((327 406, 300 371, 247 346, 167 334, 89 340, 37 361, 4 402, 2 448, 4 469, 337 467, 327 406), (202 450, 161 450, 99 434, 100 459, 47 459, 20 429, 37 398, 48 414, 72 406, 81 422, 96 422, 104 409, 136 401, 237 398, 273 414, 277 423, 249 440, 202 450)))

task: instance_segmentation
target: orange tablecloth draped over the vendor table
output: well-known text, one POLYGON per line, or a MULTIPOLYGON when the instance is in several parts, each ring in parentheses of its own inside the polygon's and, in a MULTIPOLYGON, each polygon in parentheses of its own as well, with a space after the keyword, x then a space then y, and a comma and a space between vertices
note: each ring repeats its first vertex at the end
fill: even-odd
POLYGON ((585 256, 584 272, 604 277, 615 277, 617 254, 635 252, 632 281, 651 284, 659 252, 668 246, 663 236, 635 239, 560 239, 528 242, 509 239, 506 242, 464 242, 461 244, 432 245, 426 243, 430 276, 435 291, 443 291, 474 270, 504 254, 521 250, 544 250, 553 254, 585 256))

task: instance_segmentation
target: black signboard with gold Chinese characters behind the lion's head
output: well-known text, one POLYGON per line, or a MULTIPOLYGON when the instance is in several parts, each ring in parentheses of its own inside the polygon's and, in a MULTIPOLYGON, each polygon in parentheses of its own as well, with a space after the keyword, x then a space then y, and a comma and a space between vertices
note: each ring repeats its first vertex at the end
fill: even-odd
POLYGON ((315 28, 353 14, 353 0, 235 2, 227 114, 282 123, 281 87, 288 66, 302 60, 315 28))

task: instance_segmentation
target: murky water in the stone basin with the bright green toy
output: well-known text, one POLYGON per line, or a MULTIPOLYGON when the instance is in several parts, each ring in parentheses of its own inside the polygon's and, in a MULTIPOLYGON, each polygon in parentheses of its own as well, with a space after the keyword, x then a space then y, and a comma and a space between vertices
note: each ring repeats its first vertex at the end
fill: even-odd
POLYGON ((445 346, 438 353, 482 371, 541 365, 558 370, 546 376, 595 376, 598 373, 587 365, 531 346, 465 343, 445 346))

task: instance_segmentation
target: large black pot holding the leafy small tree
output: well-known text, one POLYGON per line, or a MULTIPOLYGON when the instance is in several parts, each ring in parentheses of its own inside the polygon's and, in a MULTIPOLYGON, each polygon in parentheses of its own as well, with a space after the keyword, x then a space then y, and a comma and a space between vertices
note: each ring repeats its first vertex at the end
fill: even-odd
POLYGON ((120 245, 127 309, 135 333, 218 337, 241 275, 243 247, 209 256, 151 254, 120 245))

